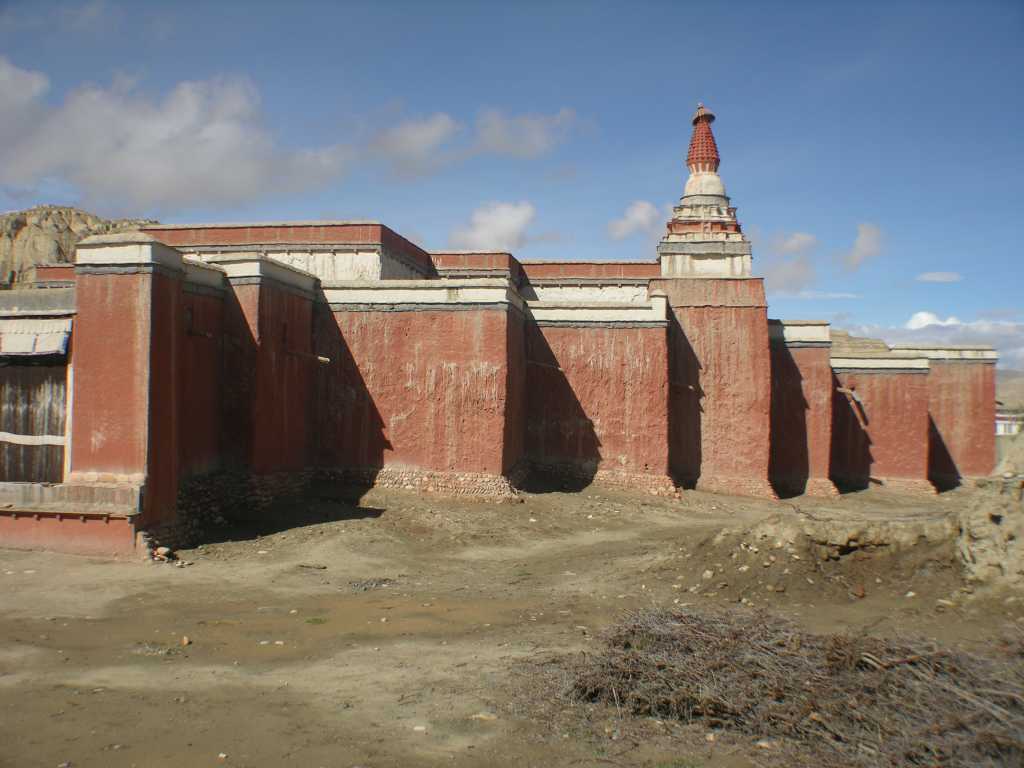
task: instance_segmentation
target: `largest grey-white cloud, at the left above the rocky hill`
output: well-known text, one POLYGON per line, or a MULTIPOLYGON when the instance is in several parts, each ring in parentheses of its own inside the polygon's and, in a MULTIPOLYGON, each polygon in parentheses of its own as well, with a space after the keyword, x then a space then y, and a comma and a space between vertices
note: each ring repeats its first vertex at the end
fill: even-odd
POLYGON ((182 82, 163 98, 119 79, 109 88, 77 88, 55 106, 43 100, 48 87, 45 75, 0 56, 2 184, 61 179, 86 205, 133 212, 233 205, 325 184, 350 154, 279 146, 245 79, 182 82), (31 123, 8 123, 17 111, 31 114, 31 123))

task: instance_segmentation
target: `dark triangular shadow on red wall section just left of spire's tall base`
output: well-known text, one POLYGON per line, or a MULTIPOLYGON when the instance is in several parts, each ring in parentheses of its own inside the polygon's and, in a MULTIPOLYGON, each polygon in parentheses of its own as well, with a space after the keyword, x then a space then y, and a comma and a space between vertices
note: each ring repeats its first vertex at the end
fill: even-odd
POLYGON ((594 481, 601 442, 543 329, 526 326, 526 455, 524 490, 581 490, 594 481))

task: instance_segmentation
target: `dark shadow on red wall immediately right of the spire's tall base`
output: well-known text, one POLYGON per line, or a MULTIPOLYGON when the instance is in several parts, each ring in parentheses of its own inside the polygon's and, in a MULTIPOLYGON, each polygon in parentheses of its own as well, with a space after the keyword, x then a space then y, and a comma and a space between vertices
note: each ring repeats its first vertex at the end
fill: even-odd
POLYGON ((779 499, 807 489, 810 459, 807 449, 808 402, 803 376, 782 344, 771 347, 771 440, 768 477, 779 499))

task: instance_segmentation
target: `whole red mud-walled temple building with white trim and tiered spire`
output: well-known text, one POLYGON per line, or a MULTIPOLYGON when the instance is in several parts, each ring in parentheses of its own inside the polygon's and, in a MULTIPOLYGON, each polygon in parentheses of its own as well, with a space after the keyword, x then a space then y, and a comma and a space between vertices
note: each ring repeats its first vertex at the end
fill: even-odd
POLYGON ((769 319, 714 120, 647 261, 428 252, 370 221, 87 238, 0 292, 0 546, 173 546, 313 481, 775 499, 991 472, 994 351, 769 319))

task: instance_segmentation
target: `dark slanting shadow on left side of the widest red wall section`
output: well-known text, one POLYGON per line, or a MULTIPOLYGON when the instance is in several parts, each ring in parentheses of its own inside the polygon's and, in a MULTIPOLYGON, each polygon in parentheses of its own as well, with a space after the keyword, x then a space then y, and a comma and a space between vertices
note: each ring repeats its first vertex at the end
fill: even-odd
MULTIPOLYGON (((391 443, 359 367, 323 294, 313 307, 314 353, 330 358, 317 367, 313 419, 316 469, 336 475, 346 496, 361 498, 384 467, 391 443)), ((397 364, 398 361, 394 361, 397 364)))

